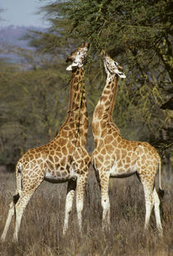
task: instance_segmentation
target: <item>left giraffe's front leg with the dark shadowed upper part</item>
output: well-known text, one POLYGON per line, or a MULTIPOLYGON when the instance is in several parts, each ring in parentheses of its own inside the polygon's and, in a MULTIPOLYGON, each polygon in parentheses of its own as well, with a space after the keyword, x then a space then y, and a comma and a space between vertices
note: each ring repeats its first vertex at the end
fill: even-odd
POLYGON ((64 216, 64 223, 63 223, 63 235, 65 235, 66 231, 68 230, 68 219, 70 213, 72 211, 72 201, 74 198, 74 192, 77 187, 77 181, 69 181, 68 182, 68 192, 66 196, 65 202, 65 216, 64 216))

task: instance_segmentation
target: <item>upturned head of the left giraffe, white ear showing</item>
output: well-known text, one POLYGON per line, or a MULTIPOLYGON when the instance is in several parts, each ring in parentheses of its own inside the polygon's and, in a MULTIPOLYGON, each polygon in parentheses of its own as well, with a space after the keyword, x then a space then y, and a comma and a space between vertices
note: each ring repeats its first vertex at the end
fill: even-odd
POLYGON ((77 50, 73 51, 72 54, 66 60, 67 62, 70 60, 72 64, 68 66, 67 70, 82 68, 86 59, 86 54, 89 48, 88 43, 82 43, 77 50))

